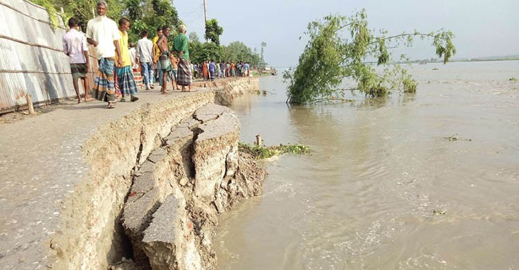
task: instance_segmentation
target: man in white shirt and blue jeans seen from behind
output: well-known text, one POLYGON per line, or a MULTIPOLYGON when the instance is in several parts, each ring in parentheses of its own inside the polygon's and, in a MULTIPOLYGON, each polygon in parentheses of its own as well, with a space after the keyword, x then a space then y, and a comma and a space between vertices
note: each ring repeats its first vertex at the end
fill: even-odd
POLYGON ((140 62, 140 69, 143 73, 144 83, 146 84, 146 90, 153 88, 153 64, 156 64, 156 60, 153 53, 153 42, 148 39, 148 33, 146 30, 140 33, 141 39, 137 42, 137 61, 140 62))

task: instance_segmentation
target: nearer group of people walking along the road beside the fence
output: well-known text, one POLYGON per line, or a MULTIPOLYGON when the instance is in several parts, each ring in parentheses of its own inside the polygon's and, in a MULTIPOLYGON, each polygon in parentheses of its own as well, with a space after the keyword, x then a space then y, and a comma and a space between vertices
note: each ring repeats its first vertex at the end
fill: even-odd
POLYGON ((153 88, 153 66, 156 64, 162 73, 161 93, 167 93, 167 78, 172 81, 173 89, 178 89, 180 85, 182 91, 186 91, 185 87, 191 91, 192 69, 189 62, 188 37, 185 35, 187 28, 184 25, 179 26, 179 35, 174 38, 172 49, 167 44, 167 37, 171 34, 169 26, 161 28, 162 33, 156 37, 156 44, 147 39, 147 31, 143 31, 141 39, 136 44, 135 55, 132 55, 127 33, 130 21, 123 17, 117 25, 106 16, 107 8, 106 1, 98 1, 98 17, 88 22, 86 36, 78 31, 78 21, 71 18, 71 30, 63 37, 64 52, 69 55, 78 103, 81 102, 78 88, 80 79, 85 89, 84 101, 91 100, 88 96, 90 86, 86 76, 90 68, 87 44, 95 47, 95 57, 99 64, 92 95, 98 100, 108 102, 109 109, 114 108, 117 102, 116 84, 122 96, 121 102, 125 102, 127 98, 131 102, 138 100, 133 66, 140 66, 146 89, 153 88))

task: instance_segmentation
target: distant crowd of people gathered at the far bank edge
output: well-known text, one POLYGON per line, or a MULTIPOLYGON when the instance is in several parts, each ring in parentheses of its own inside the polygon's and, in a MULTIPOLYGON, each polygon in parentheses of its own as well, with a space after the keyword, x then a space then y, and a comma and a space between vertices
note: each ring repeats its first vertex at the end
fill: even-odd
POLYGON ((248 77, 251 75, 251 66, 248 62, 219 62, 204 61, 201 64, 192 64, 194 78, 215 80, 215 78, 248 77))

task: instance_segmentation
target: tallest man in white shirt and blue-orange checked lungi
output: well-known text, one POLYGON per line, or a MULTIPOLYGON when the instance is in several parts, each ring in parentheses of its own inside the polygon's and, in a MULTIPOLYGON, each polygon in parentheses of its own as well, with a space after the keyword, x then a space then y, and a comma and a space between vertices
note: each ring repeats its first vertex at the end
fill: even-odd
POLYGON ((113 80, 116 55, 118 56, 118 66, 122 66, 119 48, 121 37, 116 22, 106 17, 107 8, 106 1, 98 1, 98 17, 91 19, 86 25, 86 41, 95 47, 95 57, 99 62, 93 96, 98 100, 107 101, 108 108, 113 109, 117 97, 113 80))

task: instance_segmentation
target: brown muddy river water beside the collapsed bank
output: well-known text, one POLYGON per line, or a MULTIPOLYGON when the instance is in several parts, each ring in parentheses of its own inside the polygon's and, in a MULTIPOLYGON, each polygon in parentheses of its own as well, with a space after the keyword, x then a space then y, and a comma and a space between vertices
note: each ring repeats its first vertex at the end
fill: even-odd
POLYGON ((280 75, 235 100, 242 141, 312 153, 221 217, 218 269, 519 269, 519 61, 411 73, 384 100, 287 107, 280 75))

